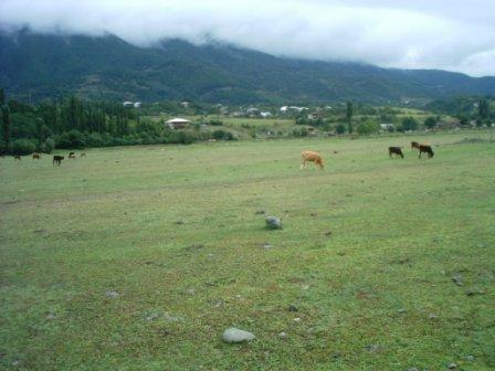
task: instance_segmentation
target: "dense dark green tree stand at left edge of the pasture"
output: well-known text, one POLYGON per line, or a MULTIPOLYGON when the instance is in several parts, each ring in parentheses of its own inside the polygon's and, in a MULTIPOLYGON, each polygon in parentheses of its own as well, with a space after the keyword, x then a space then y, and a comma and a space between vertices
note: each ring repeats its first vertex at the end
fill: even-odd
POLYGON ((29 105, 0 89, 3 155, 50 153, 55 148, 189 144, 191 132, 172 131, 140 117, 138 109, 115 102, 87 102, 70 96, 29 105))

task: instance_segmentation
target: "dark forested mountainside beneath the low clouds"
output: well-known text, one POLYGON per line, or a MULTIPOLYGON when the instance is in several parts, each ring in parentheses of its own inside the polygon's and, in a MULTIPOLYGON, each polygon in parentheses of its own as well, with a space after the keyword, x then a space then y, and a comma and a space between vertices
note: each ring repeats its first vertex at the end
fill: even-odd
POLYGON ((33 100, 88 98, 209 103, 389 103, 494 94, 495 77, 275 57, 231 45, 169 40, 138 47, 104 38, 0 33, 0 86, 33 100))

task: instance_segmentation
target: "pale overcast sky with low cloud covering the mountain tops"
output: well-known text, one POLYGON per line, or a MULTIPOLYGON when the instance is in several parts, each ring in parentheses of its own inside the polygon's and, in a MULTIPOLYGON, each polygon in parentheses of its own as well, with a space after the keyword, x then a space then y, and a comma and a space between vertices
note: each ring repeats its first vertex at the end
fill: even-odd
POLYGON ((495 0, 0 0, 0 24, 495 75, 495 0))

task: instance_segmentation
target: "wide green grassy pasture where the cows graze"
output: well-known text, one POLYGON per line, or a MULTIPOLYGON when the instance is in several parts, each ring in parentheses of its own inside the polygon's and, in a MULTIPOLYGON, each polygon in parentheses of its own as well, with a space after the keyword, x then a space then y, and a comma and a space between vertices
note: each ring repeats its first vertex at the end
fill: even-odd
POLYGON ((494 370, 495 144, 465 137, 2 158, 0 369, 494 370))

